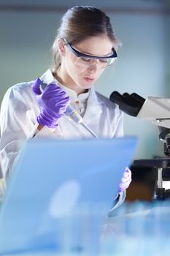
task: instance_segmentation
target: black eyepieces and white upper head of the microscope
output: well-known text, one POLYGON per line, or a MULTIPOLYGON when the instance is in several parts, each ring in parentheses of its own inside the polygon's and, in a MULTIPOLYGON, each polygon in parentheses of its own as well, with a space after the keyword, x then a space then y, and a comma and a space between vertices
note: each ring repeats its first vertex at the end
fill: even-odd
POLYGON ((170 99, 159 97, 142 98, 138 94, 119 94, 113 91, 109 99, 130 116, 151 121, 159 127, 170 129, 170 99))

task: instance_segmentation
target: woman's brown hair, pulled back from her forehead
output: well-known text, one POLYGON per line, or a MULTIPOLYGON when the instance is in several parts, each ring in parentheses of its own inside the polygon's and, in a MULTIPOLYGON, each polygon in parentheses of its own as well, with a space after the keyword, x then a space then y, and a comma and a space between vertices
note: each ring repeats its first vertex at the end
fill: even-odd
POLYGON ((106 34, 115 45, 120 45, 119 39, 112 31, 109 17, 104 12, 90 6, 76 6, 69 9, 61 19, 61 26, 53 43, 53 71, 57 71, 61 66, 58 38, 64 38, 70 44, 74 44, 101 34, 106 34))

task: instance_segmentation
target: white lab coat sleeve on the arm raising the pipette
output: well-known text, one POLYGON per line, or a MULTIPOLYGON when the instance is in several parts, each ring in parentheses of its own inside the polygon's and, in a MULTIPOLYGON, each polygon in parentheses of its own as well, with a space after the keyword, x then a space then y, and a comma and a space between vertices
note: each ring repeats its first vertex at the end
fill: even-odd
MULTIPOLYGON (((0 172, 4 178, 9 176, 23 144, 35 129, 39 111, 39 105, 31 91, 31 82, 12 86, 5 94, 0 113, 0 172)), ((56 138, 48 128, 36 136, 56 138)))

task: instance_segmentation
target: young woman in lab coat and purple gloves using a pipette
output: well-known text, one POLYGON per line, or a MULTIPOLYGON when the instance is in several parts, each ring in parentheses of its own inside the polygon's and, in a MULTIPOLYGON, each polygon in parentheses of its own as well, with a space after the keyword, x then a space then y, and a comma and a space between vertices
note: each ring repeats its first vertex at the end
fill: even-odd
MULTIPOLYGON (((94 7, 72 7, 53 43, 53 67, 41 78, 12 86, 1 105, 1 170, 8 176, 22 142, 32 135, 58 139, 123 136, 123 115, 93 84, 117 59, 120 45, 109 17, 94 7), (47 86, 46 86, 47 85, 47 86), (89 129, 66 116, 72 106, 89 129), (93 134, 90 132, 93 131, 93 134)), ((106 86, 106 85, 104 85, 106 86)), ((117 200, 131 182, 126 168, 117 200)))

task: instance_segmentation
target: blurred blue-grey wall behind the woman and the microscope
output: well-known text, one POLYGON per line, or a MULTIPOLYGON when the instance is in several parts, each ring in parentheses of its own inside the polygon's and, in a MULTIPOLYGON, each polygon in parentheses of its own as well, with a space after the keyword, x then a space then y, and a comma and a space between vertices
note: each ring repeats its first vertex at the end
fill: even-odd
MULTIPOLYGON (((10 86, 34 80, 50 67, 60 19, 81 4, 107 12, 123 43, 96 90, 107 97, 112 91, 170 97, 169 0, 0 0, 0 103, 10 86)), ((125 115, 125 135, 139 137, 136 159, 163 155, 158 128, 150 122, 125 115)))

